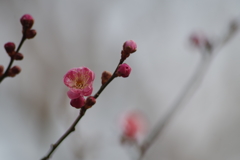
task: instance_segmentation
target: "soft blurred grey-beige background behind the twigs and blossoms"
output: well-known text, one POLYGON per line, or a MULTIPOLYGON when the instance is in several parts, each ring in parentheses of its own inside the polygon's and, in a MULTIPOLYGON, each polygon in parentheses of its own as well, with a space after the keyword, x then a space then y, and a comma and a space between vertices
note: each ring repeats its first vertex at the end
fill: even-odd
MULTIPOLYGON (((63 75, 86 66, 113 72, 122 44, 138 45, 127 59, 130 77, 114 80, 53 154, 54 160, 130 160, 120 143, 119 117, 141 111, 148 130, 169 109, 195 70, 200 55, 189 45, 194 31, 220 38, 240 16, 239 0, 1 0, 3 48, 21 39, 20 17, 35 18, 37 36, 15 61, 22 72, 0 85, 0 159, 42 158, 79 111, 69 105, 63 75)), ((237 160, 240 158, 240 35, 215 57, 200 88, 146 153, 148 160, 237 160)))

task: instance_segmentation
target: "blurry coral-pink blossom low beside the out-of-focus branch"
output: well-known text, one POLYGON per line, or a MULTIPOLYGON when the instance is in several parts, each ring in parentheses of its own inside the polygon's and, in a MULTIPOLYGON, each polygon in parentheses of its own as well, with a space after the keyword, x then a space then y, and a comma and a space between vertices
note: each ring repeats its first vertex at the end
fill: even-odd
POLYGON ((123 136, 136 140, 146 129, 146 119, 139 112, 129 112, 121 119, 123 136))

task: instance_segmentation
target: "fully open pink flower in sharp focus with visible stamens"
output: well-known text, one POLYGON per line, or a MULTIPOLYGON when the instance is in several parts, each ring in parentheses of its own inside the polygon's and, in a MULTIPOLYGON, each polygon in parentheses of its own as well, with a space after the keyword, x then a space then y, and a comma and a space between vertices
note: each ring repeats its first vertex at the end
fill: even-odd
POLYGON ((70 89, 67 92, 68 97, 76 99, 80 96, 90 96, 94 78, 94 72, 87 67, 70 69, 63 77, 64 84, 70 89))

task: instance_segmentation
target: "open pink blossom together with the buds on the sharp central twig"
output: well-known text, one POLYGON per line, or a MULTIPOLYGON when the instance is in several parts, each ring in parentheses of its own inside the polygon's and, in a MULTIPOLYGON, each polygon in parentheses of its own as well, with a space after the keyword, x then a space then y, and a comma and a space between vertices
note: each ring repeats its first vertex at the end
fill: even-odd
MULTIPOLYGON (((123 62, 129 55, 135 52, 137 45, 134 41, 129 40, 123 44, 121 52, 123 62), (124 56, 125 55, 125 56, 124 56)), ((105 85, 112 77, 128 77, 131 73, 131 67, 126 63, 120 63, 114 74, 104 71, 102 73, 102 85, 105 85)), ((63 77, 64 84, 69 88, 67 92, 68 97, 71 99, 70 104, 75 108, 90 108, 96 103, 96 97, 90 96, 93 91, 93 81, 95 73, 87 67, 78 67, 70 69, 63 77), (85 96, 87 99, 85 100, 85 96)))

